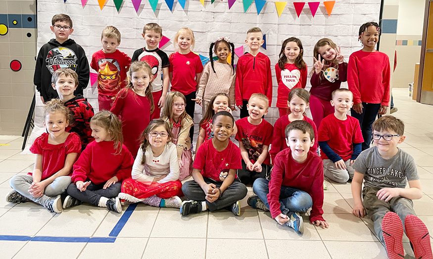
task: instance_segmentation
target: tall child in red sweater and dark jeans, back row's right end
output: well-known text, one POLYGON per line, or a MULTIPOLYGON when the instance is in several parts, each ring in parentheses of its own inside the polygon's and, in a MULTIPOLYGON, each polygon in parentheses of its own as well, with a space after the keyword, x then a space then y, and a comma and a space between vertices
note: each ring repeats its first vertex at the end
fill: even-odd
POLYGON ((347 84, 354 103, 350 114, 361 125, 362 150, 370 147, 371 125, 378 113, 386 113, 389 103, 389 59, 385 53, 375 50, 380 33, 375 22, 365 23, 359 28, 358 40, 364 47, 350 55, 347 67, 347 84))

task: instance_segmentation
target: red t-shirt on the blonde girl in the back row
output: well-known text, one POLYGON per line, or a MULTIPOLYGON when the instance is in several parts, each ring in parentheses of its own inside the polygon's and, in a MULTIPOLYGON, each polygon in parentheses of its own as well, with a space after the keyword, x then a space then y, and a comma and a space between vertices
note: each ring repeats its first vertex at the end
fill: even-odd
POLYGON ((186 55, 179 52, 172 53, 168 60, 168 71, 173 73, 170 91, 179 91, 184 95, 191 94, 197 88, 196 74, 203 71, 200 57, 192 51, 186 55))

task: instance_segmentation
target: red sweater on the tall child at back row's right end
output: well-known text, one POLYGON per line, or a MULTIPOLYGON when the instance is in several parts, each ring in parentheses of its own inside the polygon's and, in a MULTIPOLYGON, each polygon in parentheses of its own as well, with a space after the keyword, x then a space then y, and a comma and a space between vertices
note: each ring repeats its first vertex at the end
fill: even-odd
POLYGON ((389 58, 385 53, 358 50, 349 58, 347 84, 353 93, 353 103, 389 103, 389 58))

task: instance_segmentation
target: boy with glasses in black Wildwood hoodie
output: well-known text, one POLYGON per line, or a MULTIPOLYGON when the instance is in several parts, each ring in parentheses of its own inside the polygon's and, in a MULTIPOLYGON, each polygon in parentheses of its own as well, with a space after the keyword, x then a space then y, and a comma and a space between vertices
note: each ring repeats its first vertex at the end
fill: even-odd
POLYGON ((58 97, 56 91, 50 87, 51 75, 57 69, 69 68, 78 74, 75 95, 83 95, 83 89, 87 87, 90 76, 89 62, 84 49, 73 39, 68 38, 74 31, 71 18, 66 14, 56 14, 52 17, 51 24, 55 39, 52 38, 39 50, 33 77, 43 103, 58 97))

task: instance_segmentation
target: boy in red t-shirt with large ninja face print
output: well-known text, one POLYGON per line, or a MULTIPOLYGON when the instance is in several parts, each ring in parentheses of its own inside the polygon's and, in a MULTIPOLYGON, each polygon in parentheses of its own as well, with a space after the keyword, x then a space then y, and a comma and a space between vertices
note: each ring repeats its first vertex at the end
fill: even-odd
POLYGON ((120 32, 116 27, 105 27, 101 42, 102 49, 93 53, 90 67, 97 72, 99 111, 110 111, 114 97, 126 86, 131 58, 116 49, 120 44, 120 32))

